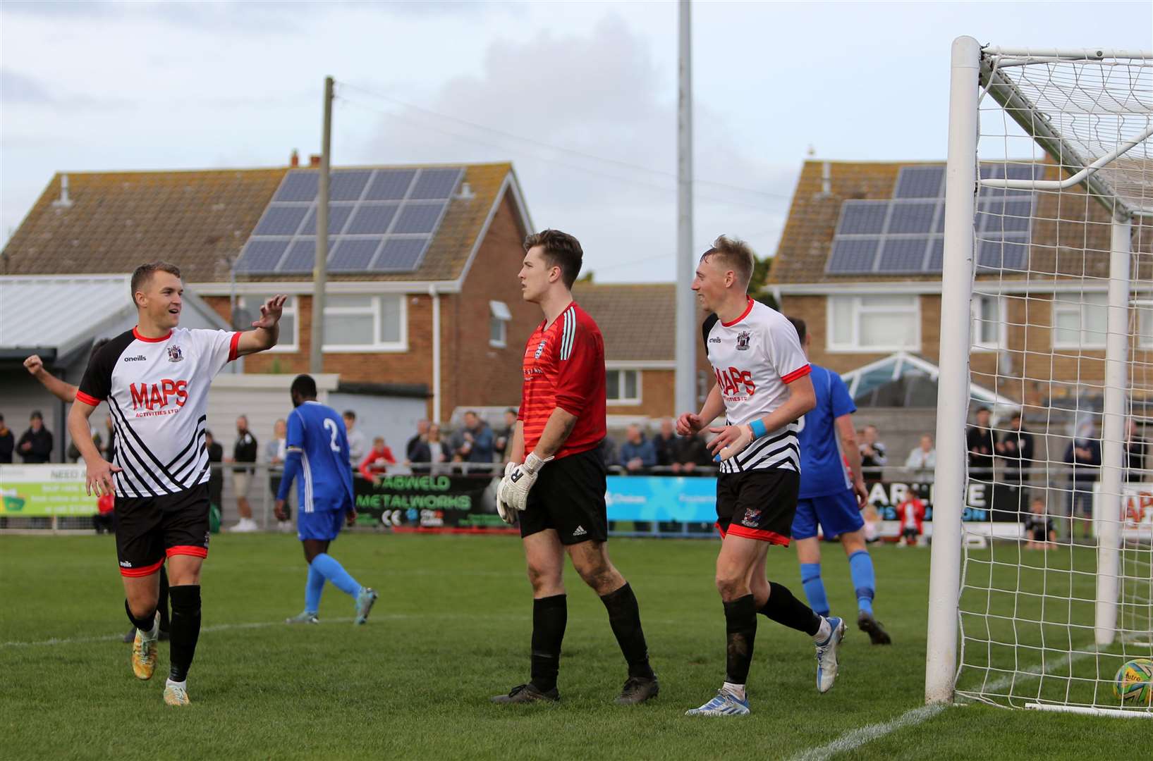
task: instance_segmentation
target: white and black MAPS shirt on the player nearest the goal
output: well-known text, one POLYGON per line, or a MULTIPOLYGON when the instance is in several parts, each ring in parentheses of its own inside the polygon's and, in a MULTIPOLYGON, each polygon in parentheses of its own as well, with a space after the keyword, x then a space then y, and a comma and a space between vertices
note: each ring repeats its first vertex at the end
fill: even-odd
MULTIPOLYGON (((812 368, 792 322, 776 310, 748 299, 731 322, 713 314, 702 326, 704 350, 724 398, 728 425, 769 414, 789 398, 789 383, 812 368)), ((770 431, 745 451, 721 463, 722 473, 777 467, 800 472, 797 421, 770 431)))

